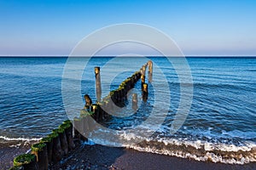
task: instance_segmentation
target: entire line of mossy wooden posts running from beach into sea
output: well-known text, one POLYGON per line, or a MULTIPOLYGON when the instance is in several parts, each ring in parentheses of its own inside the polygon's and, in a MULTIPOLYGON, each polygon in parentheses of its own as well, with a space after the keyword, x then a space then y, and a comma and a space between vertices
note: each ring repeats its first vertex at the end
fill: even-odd
MULTIPOLYGON (((128 92, 131 88, 134 88, 139 79, 142 81, 143 100, 148 99, 148 84, 145 82, 147 66, 148 82, 152 81, 153 63, 149 60, 147 64, 142 66, 140 71, 126 78, 124 82, 120 83, 119 88, 111 91, 103 99, 101 99, 100 67, 96 67, 97 103, 92 104, 90 96, 85 94, 85 105, 80 112, 80 116, 75 117, 73 122, 70 120, 63 122, 47 137, 41 139, 37 144, 32 144, 31 153, 15 157, 14 167, 10 169, 46 170, 49 168, 49 163, 61 161, 61 158, 66 156, 68 151, 75 148, 73 139, 87 140, 86 136, 93 130, 93 124, 95 124, 89 116, 96 122, 106 121, 109 117, 108 111, 111 111, 113 105, 124 105, 128 92)), ((137 94, 132 94, 132 108, 137 110, 137 94)))

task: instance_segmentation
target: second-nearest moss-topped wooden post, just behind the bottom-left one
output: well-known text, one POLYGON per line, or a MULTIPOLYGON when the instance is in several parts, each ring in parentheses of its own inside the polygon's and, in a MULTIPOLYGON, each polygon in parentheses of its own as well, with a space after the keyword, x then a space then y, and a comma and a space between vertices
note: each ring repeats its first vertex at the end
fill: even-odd
POLYGON ((32 144, 32 154, 37 156, 39 170, 48 170, 47 144, 32 144))

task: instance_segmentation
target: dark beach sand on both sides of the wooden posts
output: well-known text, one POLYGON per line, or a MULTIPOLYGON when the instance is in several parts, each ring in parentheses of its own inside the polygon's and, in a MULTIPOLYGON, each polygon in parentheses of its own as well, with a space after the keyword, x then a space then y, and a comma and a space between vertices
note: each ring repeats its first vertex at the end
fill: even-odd
MULTIPOLYGON (((0 143, 0 169, 13 166, 15 156, 26 153, 32 143, 12 141, 0 143)), ((195 161, 177 156, 166 156, 134 149, 109 147, 100 144, 84 144, 76 141, 74 150, 69 151, 61 161, 49 165, 49 169, 256 169, 256 162, 243 165, 212 161, 195 161)))

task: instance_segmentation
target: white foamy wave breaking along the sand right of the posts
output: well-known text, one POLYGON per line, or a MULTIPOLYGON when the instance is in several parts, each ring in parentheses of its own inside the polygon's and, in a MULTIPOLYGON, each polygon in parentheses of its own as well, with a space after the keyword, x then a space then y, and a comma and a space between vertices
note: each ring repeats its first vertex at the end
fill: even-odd
MULTIPOLYGON (((105 132, 106 133, 106 132, 105 132)), ((213 161, 227 164, 245 164, 256 161, 256 143, 247 140, 241 145, 208 142, 202 139, 143 138, 132 133, 119 133, 119 139, 94 138, 96 144, 125 147, 167 156, 177 156, 196 161, 213 161), (139 141, 134 143, 134 141, 139 141), (121 142, 121 144, 120 144, 121 142)))

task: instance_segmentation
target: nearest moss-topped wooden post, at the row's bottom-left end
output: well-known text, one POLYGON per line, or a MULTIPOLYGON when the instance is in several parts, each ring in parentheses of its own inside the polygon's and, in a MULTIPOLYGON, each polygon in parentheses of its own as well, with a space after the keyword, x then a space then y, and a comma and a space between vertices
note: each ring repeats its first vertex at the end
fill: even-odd
POLYGON ((15 167, 23 167, 27 170, 38 170, 37 157, 34 154, 23 154, 15 157, 15 167))

